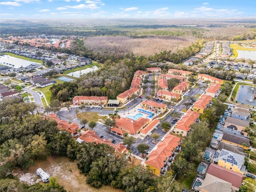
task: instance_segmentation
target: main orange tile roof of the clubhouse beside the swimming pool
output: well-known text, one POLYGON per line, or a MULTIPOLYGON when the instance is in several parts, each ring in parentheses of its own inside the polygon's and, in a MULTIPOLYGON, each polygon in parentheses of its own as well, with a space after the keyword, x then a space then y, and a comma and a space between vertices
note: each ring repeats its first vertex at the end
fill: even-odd
POLYGON ((138 118, 137 120, 132 120, 130 118, 123 118, 121 117, 120 119, 116 120, 116 127, 117 128, 122 128, 122 130, 125 130, 129 132, 130 134, 136 133, 140 128, 145 126, 148 123, 148 119, 145 118, 138 118))

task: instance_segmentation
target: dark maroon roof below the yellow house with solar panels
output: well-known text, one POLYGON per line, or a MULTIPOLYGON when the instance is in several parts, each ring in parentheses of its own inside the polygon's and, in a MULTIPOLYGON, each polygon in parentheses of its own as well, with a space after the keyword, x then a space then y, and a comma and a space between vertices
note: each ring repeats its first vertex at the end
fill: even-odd
POLYGON ((211 174, 224 181, 230 182, 232 186, 235 186, 237 188, 241 186, 243 180, 242 174, 226 169, 222 166, 218 166, 214 163, 210 164, 207 174, 211 174))

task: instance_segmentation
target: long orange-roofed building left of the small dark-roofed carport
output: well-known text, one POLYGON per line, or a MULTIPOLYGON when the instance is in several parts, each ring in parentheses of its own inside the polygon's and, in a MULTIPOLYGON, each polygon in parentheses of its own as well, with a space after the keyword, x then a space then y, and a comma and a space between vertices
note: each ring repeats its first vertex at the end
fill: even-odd
POLYGON ((72 99, 73 105, 107 105, 108 97, 106 96, 74 96, 72 99))

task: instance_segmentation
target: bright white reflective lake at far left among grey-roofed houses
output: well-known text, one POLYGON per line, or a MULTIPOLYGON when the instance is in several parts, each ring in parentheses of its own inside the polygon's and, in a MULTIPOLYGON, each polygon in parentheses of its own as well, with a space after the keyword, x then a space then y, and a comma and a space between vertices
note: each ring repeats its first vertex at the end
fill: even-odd
MULTIPOLYGON (((14 65, 14 68, 19 68, 21 66, 26 67, 30 64, 40 64, 40 63, 37 63, 37 62, 32 62, 32 61, 12 57, 12 56, 9 56, 9 55, 1 55, 0 56, 0 64, 6 65, 6 63, 14 65)), ((6 65, 6 66, 12 67, 10 65, 6 65)))

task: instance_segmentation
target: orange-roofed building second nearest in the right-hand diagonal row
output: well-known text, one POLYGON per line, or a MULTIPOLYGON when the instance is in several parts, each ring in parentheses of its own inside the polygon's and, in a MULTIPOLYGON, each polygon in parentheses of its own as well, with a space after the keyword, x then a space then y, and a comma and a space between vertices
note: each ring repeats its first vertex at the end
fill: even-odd
POLYGON ((190 125, 197 122, 199 119, 199 113, 188 110, 180 120, 178 120, 175 126, 175 132, 180 132, 182 136, 187 136, 190 131, 190 125))

